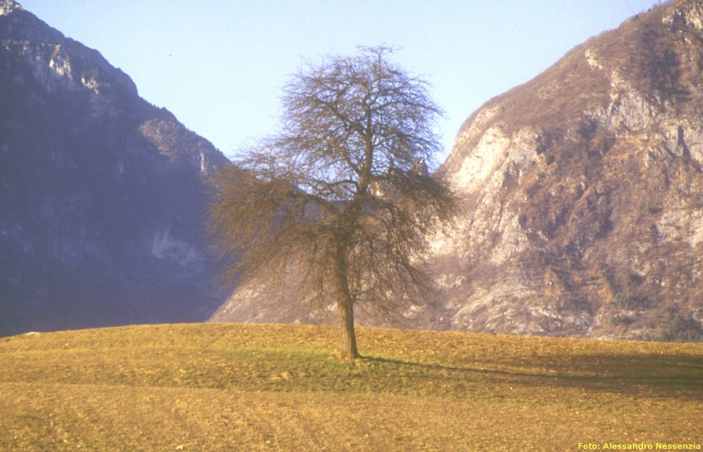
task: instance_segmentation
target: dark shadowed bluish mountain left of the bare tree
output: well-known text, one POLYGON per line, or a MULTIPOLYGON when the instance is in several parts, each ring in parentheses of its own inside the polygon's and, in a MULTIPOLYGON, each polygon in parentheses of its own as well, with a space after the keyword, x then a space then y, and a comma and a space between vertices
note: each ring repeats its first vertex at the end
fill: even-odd
POLYGON ((11 0, 0 41, 0 335, 207 318, 226 157, 11 0))

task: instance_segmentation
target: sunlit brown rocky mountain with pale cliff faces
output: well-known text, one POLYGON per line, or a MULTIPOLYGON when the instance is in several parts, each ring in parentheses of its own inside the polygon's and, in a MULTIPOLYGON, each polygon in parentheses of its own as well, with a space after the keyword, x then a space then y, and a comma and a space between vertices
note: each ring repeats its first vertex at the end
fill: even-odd
MULTIPOLYGON (((486 102, 439 169, 460 214, 408 325, 699 340, 702 87, 703 6, 680 0, 486 102)), ((212 320, 314 320, 289 301, 240 287, 212 320)))

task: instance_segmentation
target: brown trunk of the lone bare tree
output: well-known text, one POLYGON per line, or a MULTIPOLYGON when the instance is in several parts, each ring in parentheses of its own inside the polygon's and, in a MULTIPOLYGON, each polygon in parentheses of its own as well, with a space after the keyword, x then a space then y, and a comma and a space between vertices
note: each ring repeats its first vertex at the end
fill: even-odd
POLYGON ((356 332, 354 332, 354 300, 349 293, 347 259, 344 256, 344 251, 340 249, 337 250, 333 273, 337 311, 340 314, 340 359, 352 361, 352 359, 359 358, 359 350, 356 348, 356 332))

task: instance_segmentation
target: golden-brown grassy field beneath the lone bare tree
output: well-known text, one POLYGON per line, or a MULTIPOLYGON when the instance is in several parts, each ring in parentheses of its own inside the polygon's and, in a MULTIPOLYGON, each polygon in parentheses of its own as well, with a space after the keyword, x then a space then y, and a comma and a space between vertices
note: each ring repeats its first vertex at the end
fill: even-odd
MULTIPOLYGON (((703 345, 303 325, 0 338, 2 451, 703 443, 703 345)), ((581 446, 583 450, 583 446, 581 446)))

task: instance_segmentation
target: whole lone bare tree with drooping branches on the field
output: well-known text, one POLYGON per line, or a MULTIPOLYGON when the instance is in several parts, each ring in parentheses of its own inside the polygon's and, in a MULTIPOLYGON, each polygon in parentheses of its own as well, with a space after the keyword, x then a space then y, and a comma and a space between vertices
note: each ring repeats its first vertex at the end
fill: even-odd
POLYGON ((441 110, 386 46, 307 65, 285 86, 283 127, 214 176, 209 226, 228 280, 295 271, 299 299, 335 302, 340 357, 359 356, 354 308, 385 320, 432 295, 427 238, 455 201, 432 176, 441 110))

